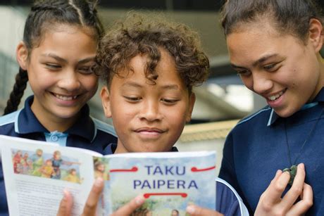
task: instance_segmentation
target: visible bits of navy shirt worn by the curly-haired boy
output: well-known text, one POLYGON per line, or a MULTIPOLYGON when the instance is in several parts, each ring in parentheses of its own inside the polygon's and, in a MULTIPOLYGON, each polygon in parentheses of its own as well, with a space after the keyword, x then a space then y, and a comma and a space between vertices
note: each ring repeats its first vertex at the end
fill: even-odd
MULTIPOLYGON (((104 154, 110 155, 116 151, 117 144, 109 144, 104 154)), ((177 148, 173 146, 171 151, 177 151, 177 148)), ((216 211, 226 216, 247 216, 249 212, 244 205, 242 198, 235 189, 223 179, 216 178, 216 211)))

